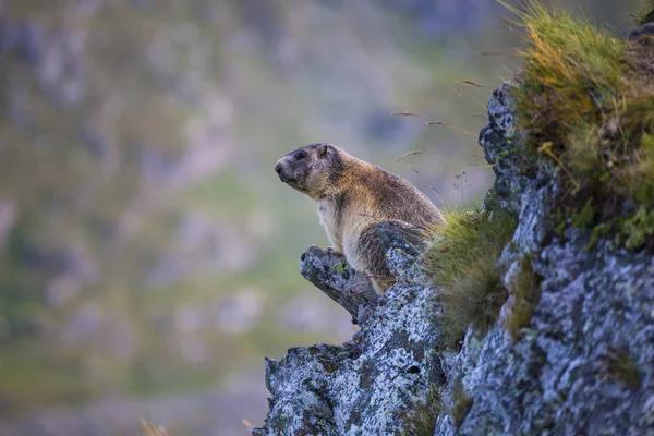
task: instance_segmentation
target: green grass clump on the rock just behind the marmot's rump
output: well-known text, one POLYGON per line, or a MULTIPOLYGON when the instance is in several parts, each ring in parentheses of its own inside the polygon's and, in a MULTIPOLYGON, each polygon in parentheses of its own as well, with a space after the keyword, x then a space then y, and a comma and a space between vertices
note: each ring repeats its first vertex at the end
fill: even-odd
POLYGON ((506 211, 447 213, 426 257, 433 284, 440 288, 443 339, 456 348, 470 325, 485 332, 498 318, 507 290, 497 261, 517 220, 506 211))

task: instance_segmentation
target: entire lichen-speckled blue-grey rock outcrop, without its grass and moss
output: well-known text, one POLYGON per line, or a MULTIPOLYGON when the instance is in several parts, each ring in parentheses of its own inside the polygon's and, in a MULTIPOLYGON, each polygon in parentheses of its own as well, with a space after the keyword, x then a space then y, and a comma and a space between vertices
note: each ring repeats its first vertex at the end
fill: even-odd
MULTIPOLYGON (((420 245, 384 223, 378 235, 396 284, 378 302, 348 294, 359 278, 317 247, 302 274, 359 322, 342 346, 289 350, 266 361, 272 397, 254 435, 401 435, 407 411, 440 396, 434 435, 654 435, 654 257, 617 250, 549 223, 560 189, 542 169, 521 171, 510 84, 488 102, 480 134, 496 181, 489 196, 519 216, 498 264, 508 284, 531 258, 541 299, 514 341, 501 320, 484 337, 472 329, 459 352, 438 346, 438 289, 424 284, 420 245), (326 290, 327 289, 327 290, 326 290), (455 424, 455 386, 469 411, 455 424)), ((502 310, 504 312, 504 310, 502 310)))

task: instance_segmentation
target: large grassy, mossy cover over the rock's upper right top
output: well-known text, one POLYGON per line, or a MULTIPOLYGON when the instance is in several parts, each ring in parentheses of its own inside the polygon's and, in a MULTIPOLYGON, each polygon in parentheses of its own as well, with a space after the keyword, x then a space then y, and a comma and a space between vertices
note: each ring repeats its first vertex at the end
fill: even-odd
POLYGON ((535 0, 509 9, 526 39, 514 90, 522 153, 537 150, 562 187, 555 232, 592 229, 586 249, 611 234, 654 249, 654 41, 614 38, 535 0))

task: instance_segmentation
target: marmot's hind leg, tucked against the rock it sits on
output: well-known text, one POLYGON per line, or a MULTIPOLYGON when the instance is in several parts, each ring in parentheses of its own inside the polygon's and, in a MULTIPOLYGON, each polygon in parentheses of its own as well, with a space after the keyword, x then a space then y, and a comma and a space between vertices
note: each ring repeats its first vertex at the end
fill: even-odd
POLYGON ((386 253, 375 233, 375 226, 376 223, 371 225, 361 232, 356 251, 360 263, 365 265, 365 274, 371 279, 375 292, 384 295, 384 292, 395 283, 395 278, 386 266, 386 253))

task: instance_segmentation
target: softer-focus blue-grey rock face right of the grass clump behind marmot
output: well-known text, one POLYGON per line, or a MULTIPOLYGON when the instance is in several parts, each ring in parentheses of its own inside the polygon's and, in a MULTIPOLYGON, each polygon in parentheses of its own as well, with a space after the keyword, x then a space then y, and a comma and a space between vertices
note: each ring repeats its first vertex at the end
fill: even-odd
POLYGON ((500 258, 502 279, 531 256, 544 278, 541 300, 519 341, 498 323, 484 338, 469 330, 461 352, 444 359, 444 397, 462 379, 472 407, 459 428, 440 416, 435 434, 652 435, 654 258, 609 242, 589 251, 589 232, 571 228, 552 237, 558 187, 516 167, 509 89, 491 99, 480 143, 495 164, 497 203, 520 218, 500 258))

